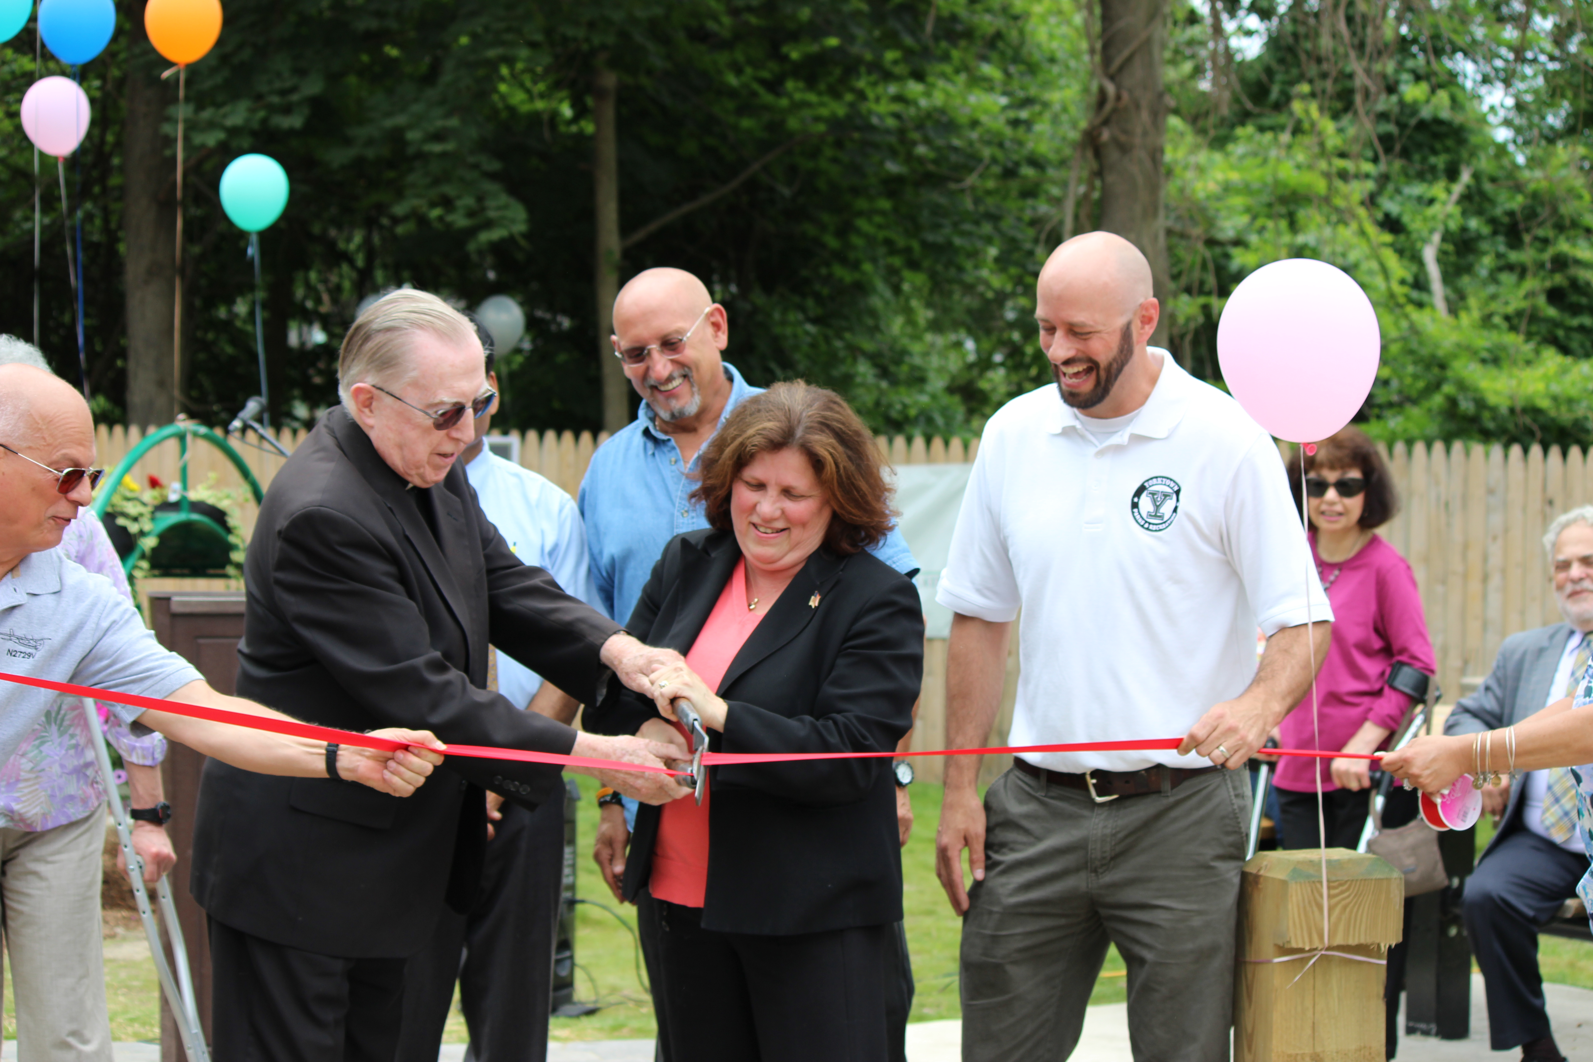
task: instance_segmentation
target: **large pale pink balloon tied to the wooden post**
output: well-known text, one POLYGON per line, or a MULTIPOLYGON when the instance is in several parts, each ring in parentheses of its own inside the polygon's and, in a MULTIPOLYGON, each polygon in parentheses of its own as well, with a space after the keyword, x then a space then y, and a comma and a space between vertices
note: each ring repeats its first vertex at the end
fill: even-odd
POLYGON ((1343 269, 1286 258, 1246 277, 1217 323, 1222 379, 1281 439, 1316 443, 1372 393, 1381 352, 1372 299, 1343 269))

